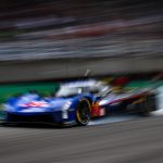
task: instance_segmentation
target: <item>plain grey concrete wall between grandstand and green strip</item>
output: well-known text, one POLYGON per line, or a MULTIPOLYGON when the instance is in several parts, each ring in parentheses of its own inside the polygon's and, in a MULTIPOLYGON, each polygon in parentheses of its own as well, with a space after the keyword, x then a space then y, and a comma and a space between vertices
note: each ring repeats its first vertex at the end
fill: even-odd
POLYGON ((162 72, 162 57, 76 58, 1 62, 0 82, 65 79, 109 74, 162 72))

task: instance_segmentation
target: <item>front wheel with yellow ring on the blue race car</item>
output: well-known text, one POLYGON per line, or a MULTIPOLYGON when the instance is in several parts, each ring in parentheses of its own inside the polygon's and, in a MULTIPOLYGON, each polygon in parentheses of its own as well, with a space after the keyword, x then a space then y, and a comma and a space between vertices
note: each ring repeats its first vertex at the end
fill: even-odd
POLYGON ((78 102, 78 106, 76 110, 76 122, 80 126, 88 125, 91 117, 91 108, 90 103, 87 99, 82 99, 78 102))

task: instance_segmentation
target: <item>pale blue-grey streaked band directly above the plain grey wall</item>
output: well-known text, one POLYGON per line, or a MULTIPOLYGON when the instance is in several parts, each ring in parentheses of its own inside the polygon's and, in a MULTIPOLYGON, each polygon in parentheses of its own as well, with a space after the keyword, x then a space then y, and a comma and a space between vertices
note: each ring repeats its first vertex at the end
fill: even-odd
POLYGON ((113 41, 110 36, 0 43, 0 61, 95 57, 163 57, 163 39, 113 41))

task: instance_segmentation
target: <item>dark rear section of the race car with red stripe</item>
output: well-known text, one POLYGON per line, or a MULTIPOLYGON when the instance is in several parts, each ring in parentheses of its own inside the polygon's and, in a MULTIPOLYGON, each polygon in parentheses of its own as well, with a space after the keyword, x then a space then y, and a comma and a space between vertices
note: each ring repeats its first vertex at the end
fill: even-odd
POLYGON ((155 92, 153 90, 136 89, 128 92, 109 91, 98 101, 105 115, 112 113, 137 113, 150 115, 156 110, 155 92))

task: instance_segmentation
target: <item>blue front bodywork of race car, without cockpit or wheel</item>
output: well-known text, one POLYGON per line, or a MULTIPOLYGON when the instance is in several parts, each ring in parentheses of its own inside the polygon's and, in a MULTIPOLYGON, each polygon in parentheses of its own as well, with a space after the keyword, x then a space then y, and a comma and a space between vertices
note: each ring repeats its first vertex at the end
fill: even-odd
POLYGON ((88 92, 70 97, 42 98, 38 93, 12 97, 4 104, 5 122, 74 124, 78 102, 84 98, 93 101, 95 97, 88 92))

